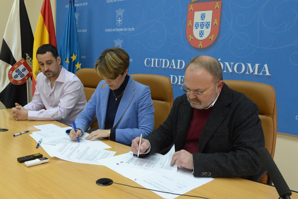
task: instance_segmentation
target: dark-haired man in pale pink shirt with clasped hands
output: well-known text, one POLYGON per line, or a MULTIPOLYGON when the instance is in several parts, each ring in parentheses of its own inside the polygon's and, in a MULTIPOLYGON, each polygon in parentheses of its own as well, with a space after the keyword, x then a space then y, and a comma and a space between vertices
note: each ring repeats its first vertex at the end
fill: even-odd
POLYGON ((75 74, 60 66, 61 57, 51 44, 40 46, 36 58, 42 73, 36 80, 32 101, 22 107, 15 103, 15 120, 57 120, 71 125, 86 106, 84 87, 75 74))

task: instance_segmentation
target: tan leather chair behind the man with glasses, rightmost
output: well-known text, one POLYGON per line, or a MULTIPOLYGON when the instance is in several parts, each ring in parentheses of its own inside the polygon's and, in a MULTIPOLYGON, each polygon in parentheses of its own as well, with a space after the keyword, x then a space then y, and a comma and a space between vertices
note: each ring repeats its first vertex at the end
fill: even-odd
MULTIPOLYGON (((265 136, 265 147, 271 157, 274 157, 277 134, 277 106, 275 90, 272 86, 260 82, 241 80, 224 80, 229 88, 244 93, 259 107, 259 117, 265 136)), ((270 183, 268 174, 265 173, 259 182, 270 183)))

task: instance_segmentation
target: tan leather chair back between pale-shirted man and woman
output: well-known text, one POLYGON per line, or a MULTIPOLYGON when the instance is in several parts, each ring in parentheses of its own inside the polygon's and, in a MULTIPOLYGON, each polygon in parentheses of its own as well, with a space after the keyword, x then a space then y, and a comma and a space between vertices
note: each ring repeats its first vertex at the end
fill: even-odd
POLYGON ((75 75, 84 85, 85 96, 88 102, 95 92, 98 83, 103 80, 103 78, 97 74, 94 68, 82 68, 78 70, 75 75))

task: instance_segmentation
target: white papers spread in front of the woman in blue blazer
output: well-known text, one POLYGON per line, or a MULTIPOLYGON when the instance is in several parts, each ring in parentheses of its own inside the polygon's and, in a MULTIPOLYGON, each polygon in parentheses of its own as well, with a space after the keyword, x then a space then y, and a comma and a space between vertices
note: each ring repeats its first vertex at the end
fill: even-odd
POLYGON ((85 140, 88 134, 80 137, 80 143, 74 142, 65 133, 70 127, 61 128, 54 124, 46 124, 34 126, 41 130, 30 134, 30 136, 38 142, 42 138, 40 146, 51 156, 58 157, 63 160, 97 164, 97 160, 112 157, 116 151, 107 151, 104 149, 111 148, 100 140, 85 140))

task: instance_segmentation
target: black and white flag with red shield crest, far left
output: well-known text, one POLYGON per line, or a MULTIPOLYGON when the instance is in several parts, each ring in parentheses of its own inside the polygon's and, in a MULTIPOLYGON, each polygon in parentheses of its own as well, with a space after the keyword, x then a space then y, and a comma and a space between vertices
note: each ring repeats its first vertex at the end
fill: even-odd
POLYGON ((6 108, 32 100, 33 40, 24 0, 15 0, 0 52, 0 101, 6 108))

